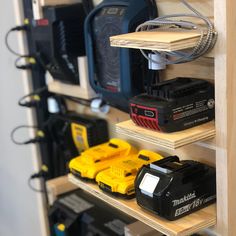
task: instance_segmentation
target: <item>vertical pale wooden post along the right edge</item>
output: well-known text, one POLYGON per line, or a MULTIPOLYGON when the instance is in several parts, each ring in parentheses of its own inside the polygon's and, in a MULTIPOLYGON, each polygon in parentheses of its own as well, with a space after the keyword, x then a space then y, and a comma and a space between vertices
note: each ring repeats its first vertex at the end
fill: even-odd
POLYGON ((215 0, 218 42, 215 57, 217 229, 236 235, 236 1, 215 0))

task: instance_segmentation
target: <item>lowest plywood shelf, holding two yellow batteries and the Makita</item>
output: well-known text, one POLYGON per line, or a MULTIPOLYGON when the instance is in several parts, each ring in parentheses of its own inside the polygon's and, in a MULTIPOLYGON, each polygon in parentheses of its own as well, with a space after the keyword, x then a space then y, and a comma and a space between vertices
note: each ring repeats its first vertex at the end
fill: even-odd
POLYGON ((211 205, 179 220, 168 221, 143 210, 137 205, 135 199, 123 200, 114 198, 103 193, 94 183, 83 182, 72 174, 69 174, 68 178, 79 188, 169 236, 187 236, 213 226, 216 223, 215 205, 211 205))

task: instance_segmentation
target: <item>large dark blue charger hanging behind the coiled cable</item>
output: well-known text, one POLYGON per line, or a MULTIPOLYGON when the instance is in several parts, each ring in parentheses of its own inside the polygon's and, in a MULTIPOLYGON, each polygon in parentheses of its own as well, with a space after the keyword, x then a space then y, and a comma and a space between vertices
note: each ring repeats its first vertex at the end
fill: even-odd
POLYGON ((134 31, 156 14, 154 1, 104 0, 85 21, 90 84, 104 100, 124 111, 130 97, 144 92, 149 72, 138 52, 110 47, 109 37, 134 31))

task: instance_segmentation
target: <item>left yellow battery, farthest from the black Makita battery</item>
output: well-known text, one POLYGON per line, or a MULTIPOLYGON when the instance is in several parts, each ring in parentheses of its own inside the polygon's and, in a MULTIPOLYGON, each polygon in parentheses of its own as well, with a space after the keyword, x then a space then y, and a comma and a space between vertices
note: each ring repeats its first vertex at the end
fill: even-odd
POLYGON ((111 139, 109 142, 89 148, 69 163, 72 174, 79 178, 95 179, 96 175, 108 169, 115 161, 126 158, 137 150, 121 139, 111 139))

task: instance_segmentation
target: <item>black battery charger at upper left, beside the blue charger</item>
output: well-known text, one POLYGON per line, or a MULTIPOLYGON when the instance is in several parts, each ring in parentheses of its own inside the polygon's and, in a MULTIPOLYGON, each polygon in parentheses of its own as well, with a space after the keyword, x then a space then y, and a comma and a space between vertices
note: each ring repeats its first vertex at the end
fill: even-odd
POLYGON ((46 6, 34 23, 36 58, 56 80, 79 84, 78 57, 85 55, 82 3, 46 6))

